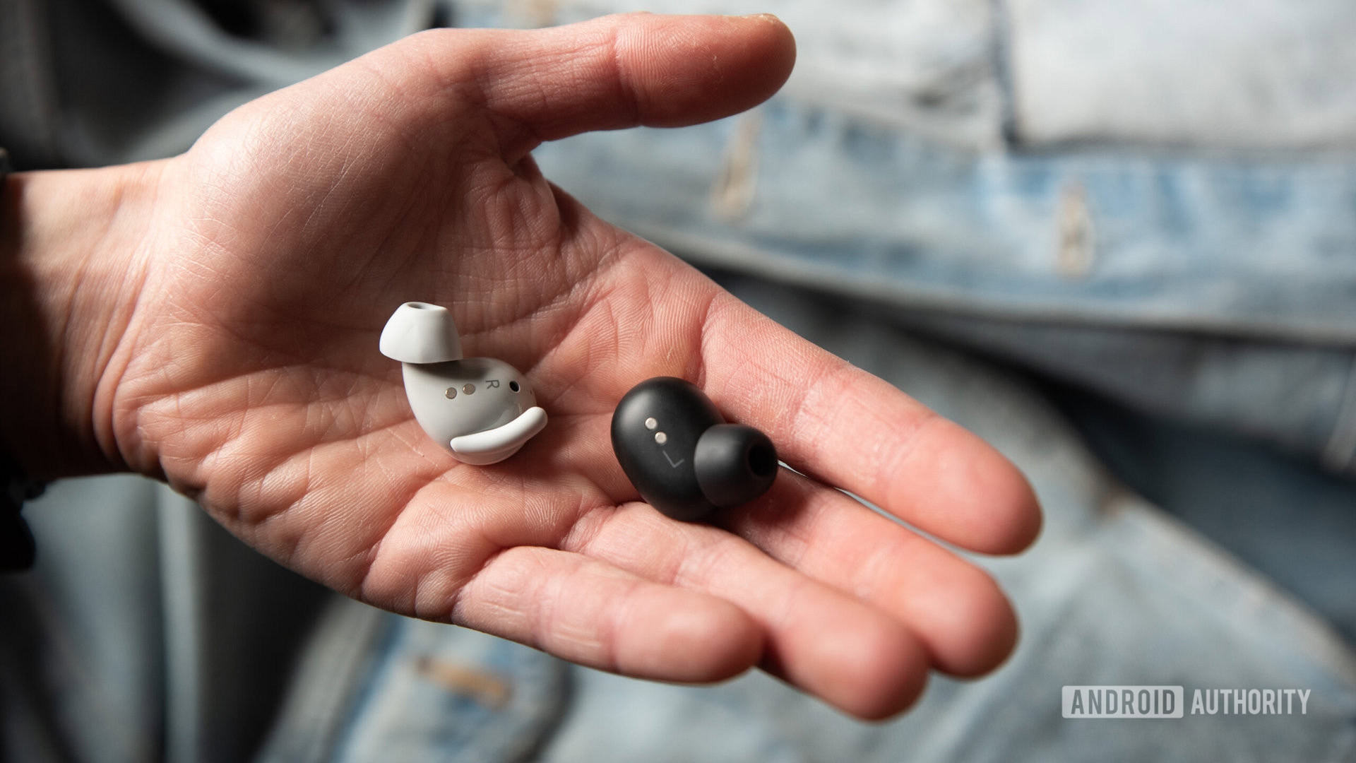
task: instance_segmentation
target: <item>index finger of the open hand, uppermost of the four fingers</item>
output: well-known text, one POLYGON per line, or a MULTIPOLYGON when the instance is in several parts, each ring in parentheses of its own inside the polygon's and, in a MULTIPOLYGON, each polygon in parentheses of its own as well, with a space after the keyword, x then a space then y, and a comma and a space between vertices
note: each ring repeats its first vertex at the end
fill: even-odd
POLYGON ((698 386, 786 463, 942 540, 1010 554, 1040 532, 1035 493, 1002 453, 724 291, 706 311, 698 386))

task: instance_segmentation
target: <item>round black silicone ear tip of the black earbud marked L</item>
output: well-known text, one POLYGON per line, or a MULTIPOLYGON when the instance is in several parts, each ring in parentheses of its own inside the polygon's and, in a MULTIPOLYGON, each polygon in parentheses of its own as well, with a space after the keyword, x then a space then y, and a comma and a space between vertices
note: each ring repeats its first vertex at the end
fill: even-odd
POLYGON ((717 424, 697 440, 693 471, 701 494, 730 509, 747 504, 777 478, 777 448, 766 434, 742 424, 717 424))

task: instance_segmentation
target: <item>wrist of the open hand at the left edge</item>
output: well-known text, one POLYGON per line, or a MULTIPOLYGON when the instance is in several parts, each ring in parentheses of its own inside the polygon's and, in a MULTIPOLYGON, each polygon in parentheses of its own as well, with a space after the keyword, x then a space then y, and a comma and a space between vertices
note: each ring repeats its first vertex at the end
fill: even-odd
POLYGON ((20 172, 0 196, 0 451, 31 478, 126 468, 118 348, 145 277, 163 163, 20 172))

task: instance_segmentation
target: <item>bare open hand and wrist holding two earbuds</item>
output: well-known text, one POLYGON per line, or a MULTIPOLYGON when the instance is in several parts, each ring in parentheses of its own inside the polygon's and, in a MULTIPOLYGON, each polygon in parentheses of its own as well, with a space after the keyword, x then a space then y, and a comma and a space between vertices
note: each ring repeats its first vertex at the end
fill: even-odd
POLYGON ((8 181, 3 447, 28 474, 136 471, 239 538, 386 610, 632 676, 761 667, 841 710, 904 710, 929 671, 1012 650, 959 547, 1039 532, 998 452, 810 345, 545 181, 541 141, 681 126, 772 95, 772 16, 609 16, 422 33, 224 117, 184 155, 8 181), (533 383, 548 428, 460 464, 377 352, 447 305, 468 356, 533 383), (609 421, 694 382, 807 477, 712 524, 637 501, 609 421))

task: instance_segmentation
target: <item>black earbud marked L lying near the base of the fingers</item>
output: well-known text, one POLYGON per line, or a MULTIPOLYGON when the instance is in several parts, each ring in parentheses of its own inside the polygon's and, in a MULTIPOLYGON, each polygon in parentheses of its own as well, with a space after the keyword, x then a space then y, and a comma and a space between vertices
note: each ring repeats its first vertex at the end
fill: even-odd
POLYGON ((701 390, 673 376, 647 379, 621 398, 612 449, 640 496, 673 519, 749 502, 777 478, 766 434, 725 424, 701 390))

